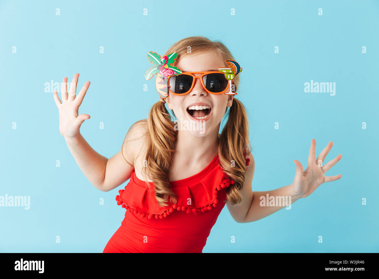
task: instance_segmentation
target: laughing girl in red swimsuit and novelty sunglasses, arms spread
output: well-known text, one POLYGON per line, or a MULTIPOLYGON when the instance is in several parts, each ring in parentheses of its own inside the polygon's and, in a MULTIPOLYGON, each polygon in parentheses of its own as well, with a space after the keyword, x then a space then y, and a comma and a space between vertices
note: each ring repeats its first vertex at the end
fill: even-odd
MULTIPOLYGON (((178 41, 165 55, 173 52, 177 52, 175 66, 182 73, 196 72, 189 81, 192 84, 180 84, 181 90, 183 86, 187 89, 175 91, 179 87, 170 79, 170 90, 176 94, 161 97, 147 119, 134 123, 121 150, 110 159, 94 151, 80 134, 81 124, 90 116, 78 115, 78 108, 90 82, 76 96, 79 74, 72 79, 68 94, 65 77, 62 102, 54 92, 60 132, 88 180, 97 189, 110 191, 130 178, 116 196, 117 204, 126 210, 125 218, 103 252, 201 253, 225 204, 236 222, 253 222, 288 206, 264 206, 262 199, 286 197, 293 203, 312 194, 320 184, 341 178, 324 175, 342 158, 339 154, 323 165, 333 143, 315 158, 316 141, 312 139, 307 169, 303 171, 301 163, 294 160, 292 184, 252 192, 254 157, 246 110, 234 95, 210 93, 205 82, 208 77, 200 77, 204 71, 227 68, 225 60, 234 60, 232 54, 222 43, 201 36, 178 41), (227 122, 219 134, 224 117, 227 122), (200 125, 196 127, 201 129, 178 129, 185 121, 197 121, 200 125)), ((233 80, 233 91, 238 88, 239 76, 233 80)))

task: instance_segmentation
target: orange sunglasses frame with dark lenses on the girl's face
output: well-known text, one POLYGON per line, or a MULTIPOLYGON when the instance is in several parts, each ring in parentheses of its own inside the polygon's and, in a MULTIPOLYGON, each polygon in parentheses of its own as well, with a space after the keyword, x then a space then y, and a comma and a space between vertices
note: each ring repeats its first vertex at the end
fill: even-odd
POLYGON ((195 80, 200 79, 205 91, 211 94, 222 94, 229 90, 229 80, 219 71, 184 72, 175 76, 164 77, 168 79, 169 93, 186 95, 192 91, 195 80), (194 76, 194 74, 201 74, 194 76))

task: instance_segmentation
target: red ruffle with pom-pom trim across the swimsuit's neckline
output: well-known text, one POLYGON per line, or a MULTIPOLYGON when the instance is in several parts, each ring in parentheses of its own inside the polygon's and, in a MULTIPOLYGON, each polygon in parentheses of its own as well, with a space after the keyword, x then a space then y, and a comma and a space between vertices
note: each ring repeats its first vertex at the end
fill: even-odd
POLYGON ((163 219, 177 211, 200 214, 216 207, 220 202, 218 192, 234 184, 219 167, 218 155, 201 172, 192 177, 170 182, 172 191, 177 195, 177 203, 166 207, 158 205, 153 191, 153 183, 147 188, 144 181, 139 180, 132 172, 130 182, 125 189, 119 190, 116 196, 117 205, 128 211, 139 214, 143 218, 163 219), (188 199, 191 204, 188 205, 188 199))

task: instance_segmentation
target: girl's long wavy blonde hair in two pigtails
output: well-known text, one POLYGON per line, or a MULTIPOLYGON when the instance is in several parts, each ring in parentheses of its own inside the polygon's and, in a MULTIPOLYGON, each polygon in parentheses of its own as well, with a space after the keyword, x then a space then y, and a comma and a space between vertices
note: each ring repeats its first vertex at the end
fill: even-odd
MULTIPOLYGON (((223 43, 211 41, 203 36, 181 39, 173 44, 164 55, 176 51, 178 57, 174 63, 175 65, 181 58, 189 55, 189 46, 191 49, 190 54, 213 50, 217 57, 222 60, 235 60, 223 43)), ((225 66, 227 67, 226 64, 225 66)), ((235 91, 237 91, 239 80, 240 75, 235 76, 235 79, 233 79, 235 91)), ((149 117, 135 122, 125 136, 125 139, 127 139, 130 130, 137 123, 145 125, 146 161, 144 161, 141 169, 144 177, 149 177, 153 181, 154 189, 151 189, 151 191, 155 191, 155 199, 157 199, 161 207, 168 206, 170 201, 174 204, 177 203, 177 195, 172 191, 169 183, 169 166, 172 162, 172 153, 175 151, 177 131, 175 131, 174 123, 172 122, 174 119, 166 109, 163 100, 163 98, 160 98, 158 102, 153 104, 149 117)), ((172 110, 171 113, 175 115, 172 110)), ((242 202, 240 190, 243 187, 246 172, 245 148, 246 154, 251 152, 249 121, 245 107, 236 98, 233 98, 232 106, 226 109, 223 120, 226 118, 226 124, 218 139, 218 156, 222 171, 235 181, 235 184, 230 184, 226 188, 226 193, 227 200, 232 205, 236 205, 242 202), (234 166, 231 164, 232 160, 234 160, 234 166)), ((126 143, 125 140, 124 143, 126 143)), ((122 154, 124 153, 122 152, 122 154)), ((124 155, 122 156, 124 157, 124 155)), ((128 162, 128 164, 130 163, 128 162)), ((148 182, 146 182, 146 185, 150 188, 148 182)))

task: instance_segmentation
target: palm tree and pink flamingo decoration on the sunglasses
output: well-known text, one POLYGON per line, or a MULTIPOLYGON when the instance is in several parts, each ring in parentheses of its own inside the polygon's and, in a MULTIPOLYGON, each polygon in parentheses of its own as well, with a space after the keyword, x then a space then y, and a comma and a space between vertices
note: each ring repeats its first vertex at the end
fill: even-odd
POLYGON ((147 53, 147 60, 149 60, 150 63, 153 63, 153 66, 146 71, 145 78, 146 80, 149 80, 157 74, 155 86, 162 98, 167 98, 169 95, 168 79, 170 76, 177 76, 182 73, 182 70, 171 65, 176 59, 176 51, 169 55, 165 55, 162 58, 156 52, 149 51, 147 53))

